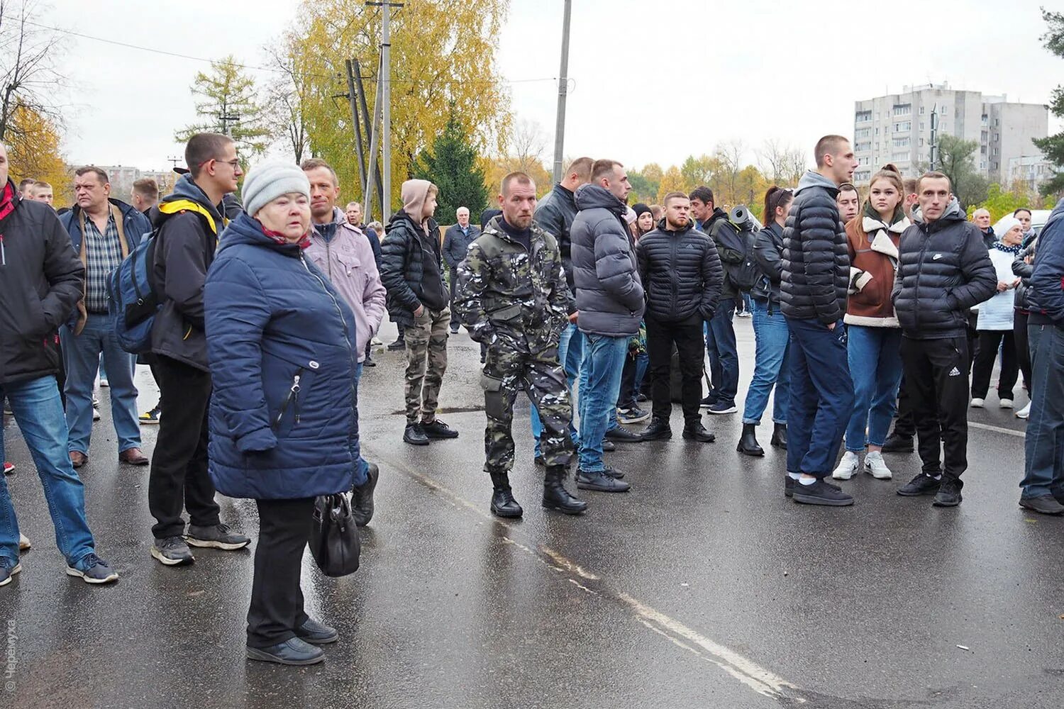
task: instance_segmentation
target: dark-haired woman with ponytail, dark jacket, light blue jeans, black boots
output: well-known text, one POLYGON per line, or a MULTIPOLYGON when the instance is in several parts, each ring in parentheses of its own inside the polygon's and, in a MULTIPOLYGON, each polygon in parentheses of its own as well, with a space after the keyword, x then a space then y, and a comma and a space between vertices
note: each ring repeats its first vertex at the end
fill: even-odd
POLYGON ((780 254, 783 252, 783 225, 793 201, 794 195, 789 189, 777 185, 768 188, 765 210, 762 212, 765 226, 753 241, 754 257, 761 270, 758 283, 750 289, 757 349, 753 378, 743 408, 743 436, 736 448, 739 453, 750 456, 765 455, 758 443, 757 431, 774 386, 771 444, 781 449, 787 446, 787 400, 791 398, 787 348, 791 332, 780 311, 780 254))

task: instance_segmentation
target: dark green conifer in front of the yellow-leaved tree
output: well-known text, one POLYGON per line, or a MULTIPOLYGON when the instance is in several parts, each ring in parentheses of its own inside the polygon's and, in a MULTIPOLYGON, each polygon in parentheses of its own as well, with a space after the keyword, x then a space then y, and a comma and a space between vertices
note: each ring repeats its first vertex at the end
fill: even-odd
POLYGON ((487 206, 484 170, 478 166, 477 150, 455 119, 452 107, 447 128, 422 150, 411 166, 411 176, 428 180, 439 188, 436 221, 453 223, 459 207, 468 207, 470 215, 480 215, 487 206))

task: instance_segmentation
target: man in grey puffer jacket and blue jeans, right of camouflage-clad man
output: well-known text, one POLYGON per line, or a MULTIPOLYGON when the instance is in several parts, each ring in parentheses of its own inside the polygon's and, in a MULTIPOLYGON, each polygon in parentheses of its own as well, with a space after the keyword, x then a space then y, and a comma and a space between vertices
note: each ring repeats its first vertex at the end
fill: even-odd
POLYGON ((602 460, 602 439, 638 441, 616 424, 617 395, 628 341, 639 331, 645 302, 625 201, 632 186, 617 161, 596 161, 591 183, 577 190, 572 273, 577 325, 584 335, 580 368, 580 467, 577 487, 625 492, 622 473, 602 460), (619 434, 619 436, 618 436, 619 434))

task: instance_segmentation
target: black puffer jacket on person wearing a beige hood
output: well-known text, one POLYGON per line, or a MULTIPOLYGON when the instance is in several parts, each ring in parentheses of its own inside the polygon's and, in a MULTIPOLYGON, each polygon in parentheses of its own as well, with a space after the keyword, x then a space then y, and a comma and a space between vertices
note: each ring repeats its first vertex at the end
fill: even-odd
POLYGON ((440 273, 440 284, 429 284, 429 287, 446 290, 442 285, 439 226, 436 225, 436 220, 429 219, 432 249, 426 248, 426 239, 419 235, 423 234, 421 226, 414 223, 410 215, 402 209, 395 213, 384 232, 380 271, 381 283, 388 291, 386 299, 388 317, 393 322, 412 327, 414 310, 421 306, 426 291, 426 256, 436 259, 436 267, 440 273))

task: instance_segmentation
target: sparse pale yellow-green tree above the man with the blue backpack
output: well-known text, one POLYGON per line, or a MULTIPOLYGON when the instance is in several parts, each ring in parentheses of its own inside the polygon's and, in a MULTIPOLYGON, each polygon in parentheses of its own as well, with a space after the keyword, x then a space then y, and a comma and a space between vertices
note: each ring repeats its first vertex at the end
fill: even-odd
POLYGON ((190 88, 203 120, 178 131, 174 140, 186 142, 196 133, 225 133, 242 153, 266 152, 270 141, 266 109, 255 98, 255 80, 232 54, 211 62, 211 72, 198 72, 190 88))

